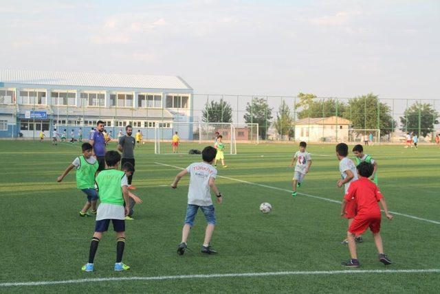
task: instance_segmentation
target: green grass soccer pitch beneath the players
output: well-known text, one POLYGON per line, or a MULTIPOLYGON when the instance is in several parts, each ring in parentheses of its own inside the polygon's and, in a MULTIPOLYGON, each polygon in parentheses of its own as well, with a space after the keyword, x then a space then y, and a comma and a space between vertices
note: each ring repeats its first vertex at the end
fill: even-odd
MULTIPOLYGON (((352 146, 350 146, 352 147, 352 146)), ((111 145, 115 148, 115 144, 111 145)), ((76 190, 74 172, 63 183, 56 177, 80 154, 78 144, 51 146, 49 142, 0 141, 1 167, 1 292, 85 291, 157 292, 331 292, 438 293, 440 287, 440 150, 420 146, 371 146, 366 152, 379 163, 379 181, 388 207, 395 215, 383 220, 382 237, 394 264, 377 260, 369 232, 358 246, 362 267, 347 270, 347 221, 340 218, 342 189, 334 146, 310 144, 313 165, 299 194, 292 198, 289 161, 296 144, 237 146, 238 155, 226 155, 228 168, 219 168, 217 185, 223 193, 216 205, 218 226, 212 245, 215 256, 199 253, 205 221, 197 216, 188 247, 177 256, 186 212, 188 177, 177 190, 169 188, 179 171, 199 155, 154 155, 152 144, 135 150, 133 184, 144 203, 135 207, 135 220, 126 223, 124 262, 131 270, 115 273, 115 237, 110 230, 98 249, 94 273, 83 273, 94 218, 80 218, 85 195, 76 190), (263 157, 261 155, 264 155, 263 157), (227 177, 227 178, 224 178, 227 177), (240 181, 239 181, 240 180, 240 181), (243 182, 245 181, 245 182, 243 182), (265 186, 262 186, 265 185, 265 186), (278 188, 278 189, 276 189, 278 188), (259 205, 269 202, 270 214, 259 205), (429 222, 433 220, 434 222, 429 222), (437 269, 406 273, 401 270, 437 269), (353 273, 380 270, 378 273, 353 273), (395 272, 382 272, 382 271, 395 272), (234 276, 238 273, 298 273, 234 276), (318 271, 327 273, 318 274, 318 271), (339 272, 344 271, 344 272, 339 272), (158 280, 104 280, 83 283, 7 286, 5 283, 81 280, 86 278, 162 277, 231 273, 225 277, 186 277, 158 280), (436 290, 437 289, 437 290, 436 290)))

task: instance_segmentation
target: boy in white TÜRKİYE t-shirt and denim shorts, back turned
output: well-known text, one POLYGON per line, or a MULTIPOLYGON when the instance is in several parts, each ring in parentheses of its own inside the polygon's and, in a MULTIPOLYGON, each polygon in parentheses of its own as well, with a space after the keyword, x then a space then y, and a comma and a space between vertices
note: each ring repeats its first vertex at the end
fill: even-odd
POLYGON ((190 229, 194 224, 194 219, 197 214, 197 210, 203 212, 206 218, 208 226, 206 227, 205 240, 201 247, 201 252, 206 254, 217 253, 210 246, 212 233, 215 227, 215 214, 214 205, 212 205, 210 189, 214 191, 217 196, 217 203, 221 203, 223 198, 219 189, 215 185, 215 178, 217 177, 217 169, 212 166, 217 150, 214 147, 208 146, 201 152, 203 162, 196 162, 190 164, 188 168, 179 172, 171 184, 171 188, 177 188, 181 177, 185 174, 190 174, 190 185, 188 188, 188 207, 186 208, 186 218, 184 228, 182 229, 181 243, 177 247, 177 253, 183 255, 187 247, 186 241, 190 234, 190 229))

